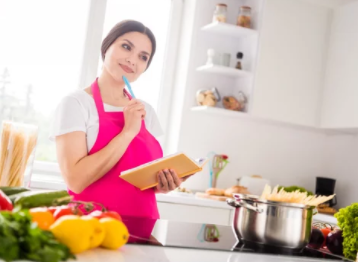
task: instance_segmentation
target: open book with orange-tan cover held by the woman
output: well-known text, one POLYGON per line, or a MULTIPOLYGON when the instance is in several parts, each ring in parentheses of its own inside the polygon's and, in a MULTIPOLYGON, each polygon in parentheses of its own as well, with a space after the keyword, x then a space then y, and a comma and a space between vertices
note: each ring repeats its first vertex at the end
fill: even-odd
POLYGON ((145 190, 158 185, 157 174, 163 169, 174 169, 179 177, 185 177, 200 172, 208 159, 192 160, 184 153, 169 155, 144 165, 123 171, 120 178, 145 190))

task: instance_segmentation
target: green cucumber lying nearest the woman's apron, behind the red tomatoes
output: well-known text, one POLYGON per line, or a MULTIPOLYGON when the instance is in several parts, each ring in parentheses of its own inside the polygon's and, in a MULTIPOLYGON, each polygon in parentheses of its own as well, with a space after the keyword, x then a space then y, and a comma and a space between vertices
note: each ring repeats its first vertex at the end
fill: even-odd
POLYGON ((65 205, 71 201, 70 195, 66 190, 58 191, 29 191, 22 192, 14 201, 15 206, 21 208, 33 208, 43 206, 65 205))

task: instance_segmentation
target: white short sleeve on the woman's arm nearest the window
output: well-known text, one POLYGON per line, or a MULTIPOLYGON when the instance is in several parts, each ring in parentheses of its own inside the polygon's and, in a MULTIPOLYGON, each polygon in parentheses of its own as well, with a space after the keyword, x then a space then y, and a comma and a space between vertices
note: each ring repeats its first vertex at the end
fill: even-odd
POLYGON ((56 136, 75 131, 86 132, 84 109, 78 99, 66 96, 55 111, 49 138, 55 141, 56 136))

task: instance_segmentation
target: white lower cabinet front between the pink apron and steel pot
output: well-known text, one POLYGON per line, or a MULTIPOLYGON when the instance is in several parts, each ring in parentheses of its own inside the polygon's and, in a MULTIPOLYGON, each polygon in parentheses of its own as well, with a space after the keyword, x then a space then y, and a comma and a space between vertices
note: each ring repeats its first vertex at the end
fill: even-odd
POLYGON ((158 202, 161 219, 216 225, 230 225, 230 209, 158 202))

